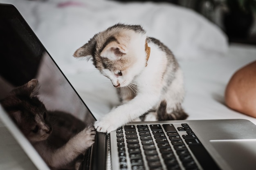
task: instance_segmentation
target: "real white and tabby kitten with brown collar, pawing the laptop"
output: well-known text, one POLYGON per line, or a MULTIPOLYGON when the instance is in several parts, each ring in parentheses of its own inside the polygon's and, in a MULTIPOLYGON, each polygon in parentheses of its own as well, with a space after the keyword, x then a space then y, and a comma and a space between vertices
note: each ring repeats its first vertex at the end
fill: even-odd
POLYGON ((74 57, 88 57, 108 77, 121 105, 95 122, 99 132, 110 132, 138 120, 186 119, 182 109, 182 70, 162 42, 146 36, 139 25, 116 24, 94 35, 74 57))

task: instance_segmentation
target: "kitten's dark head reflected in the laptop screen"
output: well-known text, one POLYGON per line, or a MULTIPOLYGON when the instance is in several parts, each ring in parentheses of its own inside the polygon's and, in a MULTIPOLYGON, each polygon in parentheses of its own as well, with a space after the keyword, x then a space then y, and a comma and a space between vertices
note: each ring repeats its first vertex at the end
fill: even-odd
POLYGON ((43 141, 52 132, 47 123, 47 110, 36 97, 38 82, 36 79, 13 89, 1 102, 13 121, 29 141, 43 141))

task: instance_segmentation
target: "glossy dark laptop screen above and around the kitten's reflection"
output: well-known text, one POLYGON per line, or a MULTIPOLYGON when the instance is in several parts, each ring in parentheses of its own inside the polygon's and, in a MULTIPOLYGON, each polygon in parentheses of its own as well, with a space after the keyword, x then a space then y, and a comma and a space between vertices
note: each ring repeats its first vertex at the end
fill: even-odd
MULTIPOLYGON (((72 57, 72 56, 70 56, 72 57)), ((37 79, 37 97, 47 110, 70 113, 86 125, 95 118, 18 11, 0 8, 0 100, 37 79)))

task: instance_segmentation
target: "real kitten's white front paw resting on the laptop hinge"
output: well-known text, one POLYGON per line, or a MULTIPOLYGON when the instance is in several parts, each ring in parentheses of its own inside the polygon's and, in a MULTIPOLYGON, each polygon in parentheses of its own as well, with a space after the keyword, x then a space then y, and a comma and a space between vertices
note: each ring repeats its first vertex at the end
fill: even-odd
POLYGON ((101 119, 101 120, 97 120, 94 123, 94 127, 98 132, 107 132, 110 133, 111 131, 116 130, 117 128, 119 128, 119 126, 121 126, 120 123, 114 122, 114 120, 112 119, 101 119))

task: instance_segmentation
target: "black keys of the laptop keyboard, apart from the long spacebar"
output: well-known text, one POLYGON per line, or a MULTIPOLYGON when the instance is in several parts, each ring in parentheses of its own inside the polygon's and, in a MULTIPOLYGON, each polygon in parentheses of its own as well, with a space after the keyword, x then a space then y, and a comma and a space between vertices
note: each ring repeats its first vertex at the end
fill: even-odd
POLYGON ((127 125, 116 132, 121 170, 200 169, 187 146, 203 146, 188 124, 177 130, 173 124, 127 125))

